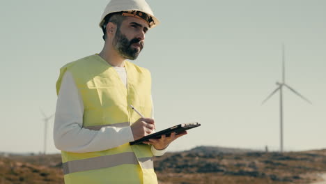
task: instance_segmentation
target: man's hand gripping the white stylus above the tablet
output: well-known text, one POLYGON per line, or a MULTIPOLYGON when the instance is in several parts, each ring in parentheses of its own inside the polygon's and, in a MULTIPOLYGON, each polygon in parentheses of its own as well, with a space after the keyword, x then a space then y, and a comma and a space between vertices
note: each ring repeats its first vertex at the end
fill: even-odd
POLYGON ((139 118, 131 125, 134 140, 149 135, 151 132, 153 132, 154 128, 155 122, 153 118, 139 118))

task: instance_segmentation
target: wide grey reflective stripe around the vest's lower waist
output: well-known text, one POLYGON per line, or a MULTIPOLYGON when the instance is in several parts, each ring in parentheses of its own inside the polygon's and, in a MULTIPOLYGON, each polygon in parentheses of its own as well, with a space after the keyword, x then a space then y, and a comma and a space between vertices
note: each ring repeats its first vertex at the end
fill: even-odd
POLYGON ((102 157, 73 160, 63 163, 63 174, 70 174, 79 171, 102 169, 114 167, 121 164, 141 164, 143 169, 154 169, 153 158, 139 158, 137 161, 133 152, 119 153, 116 155, 105 155, 102 157))

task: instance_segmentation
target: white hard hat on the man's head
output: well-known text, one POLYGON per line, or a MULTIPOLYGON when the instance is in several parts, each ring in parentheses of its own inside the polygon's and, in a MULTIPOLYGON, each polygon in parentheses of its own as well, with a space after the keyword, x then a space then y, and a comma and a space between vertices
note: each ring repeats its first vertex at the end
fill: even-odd
POLYGON ((124 16, 132 16, 146 20, 150 28, 160 24, 160 21, 154 17, 153 11, 145 0, 111 0, 104 9, 100 21, 100 27, 104 24, 104 17, 110 13, 118 12, 121 12, 121 15, 124 16), (143 15, 143 13, 146 13, 147 15, 143 15))

